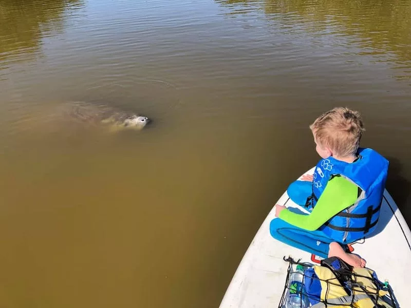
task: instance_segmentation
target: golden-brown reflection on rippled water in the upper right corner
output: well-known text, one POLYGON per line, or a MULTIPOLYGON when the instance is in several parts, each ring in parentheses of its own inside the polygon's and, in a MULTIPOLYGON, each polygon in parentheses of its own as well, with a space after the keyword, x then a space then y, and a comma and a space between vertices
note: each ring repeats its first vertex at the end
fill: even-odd
MULTIPOLYGON (((303 30, 315 37, 345 36, 346 54, 369 55, 375 62, 387 62, 397 79, 411 79, 411 2, 407 0, 215 0, 236 10, 238 5, 253 4, 272 20, 284 21, 286 31, 303 30), (294 16, 294 17, 293 17, 294 16), (295 18, 295 16, 303 17, 295 18), (359 46, 361 50, 350 50, 359 46)), ((323 44, 323 43, 319 43, 323 44)), ((326 44, 332 44, 327 42, 326 44)))

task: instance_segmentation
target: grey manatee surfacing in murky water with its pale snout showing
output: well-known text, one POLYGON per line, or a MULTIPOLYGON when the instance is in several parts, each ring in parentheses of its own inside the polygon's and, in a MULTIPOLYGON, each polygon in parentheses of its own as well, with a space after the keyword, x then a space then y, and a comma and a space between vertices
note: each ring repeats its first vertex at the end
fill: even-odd
POLYGON ((69 119, 91 125, 107 125, 111 131, 122 129, 144 128, 150 119, 132 112, 119 110, 107 105, 97 105, 85 102, 69 103, 64 108, 64 114, 69 119))

